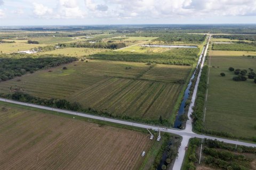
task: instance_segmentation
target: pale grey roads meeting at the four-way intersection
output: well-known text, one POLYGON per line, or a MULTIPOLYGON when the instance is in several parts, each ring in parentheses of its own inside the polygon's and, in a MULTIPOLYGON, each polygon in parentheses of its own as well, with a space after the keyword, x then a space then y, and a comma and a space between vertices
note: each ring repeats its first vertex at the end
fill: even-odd
MULTIPOLYGON (((211 35, 210 35, 211 36, 211 35)), ((188 115, 190 115, 192 113, 192 108, 194 106, 194 102, 195 102, 195 98, 196 98, 196 92, 197 92, 197 87, 198 87, 198 83, 200 80, 200 75, 201 75, 201 71, 202 71, 202 67, 204 65, 204 60, 205 60, 205 56, 207 53, 207 48, 209 46, 209 41, 207 42, 206 48, 205 48, 205 53, 203 55, 203 61, 201 64, 201 70, 198 74, 198 78, 196 81, 196 86, 193 92, 193 98, 191 100, 191 105, 189 107, 189 113, 188 115), (195 95, 194 95, 195 94, 195 95)), ((93 118, 95 120, 101 120, 101 121, 107 121, 107 122, 113 122, 113 123, 119 123, 119 124, 124 124, 124 125, 131 125, 131 126, 136 126, 139 128, 147 128, 147 129, 153 129, 153 128, 159 128, 158 126, 153 126, 153 125, 148 125, 148 124, 142 124, 142 123, 134 123, 134 122, 129 122, 129 121, 122 121, 122 120, 116 120, 113 118, 107 118, 107 117, 101 117, 101 116, 95 116, 95 115, 91 115, 91 114, 85 114, 85 113, 79 113, 79 112, 73 112, 73 111, 66 111, 63 109, 58 109, 58 108, 52 108, 52 107, 46 107, 46 106, 40 106, 40 105, 35 105, 35 104, 28 104, 28 103, 23 103, 20 101, 14 101, 14 100, 8 100, 8 99, 4 99, 4 98, 0 98, 0 101, 5 101, 7 103, 13 103, 13 104, 18 104, 18 105, 24 105, 24 106, 29 106, 29 107, 35 107, 35 108, 41 108, 41 109, 46 109, 49 111, 55 111, 55 112, 60 112, 60 113, 66 113, 66 114, 71 114, 71 115, 77 115, 77 116, 82 116, 82 117, 87 117, 87 118, 93 118)), ((178 170, 181 168, 182 162, 183 162, 183 158, 185 156, 185 147, 188 145, 188 141, 190 138, 207 138, 207 139, 212 139, 212 140, 218 140, 218 141, 223 141, 226 143, 231 143, 231 144, 235 144, 235 145, 243 145, 243 146, 249 146, 249 147, 256 147, 256 145, 254 143, 247 143, 247 142, 241 142, 241 141, 236 141, 236 140, 230 140, 230 139, 223 139, 223 138, 216 138, 216 137, 210 137, 207 135, 201 135, 201 134, 196 134, 192 131, 192 120, 189 116, 189 120, 187 121, 186 124, 186 129, 185 130, 178 130, 178 129, 167 129, 167 130, 161 130, 161 131, 165 131, 168 133, 173 133, 173 134, 178 134, 182 136, 182 141, 181 141, 181 146, 179 148, 179 155, 177 157, 177 159, 175 160, 173 169, 174 170, 178 170)))

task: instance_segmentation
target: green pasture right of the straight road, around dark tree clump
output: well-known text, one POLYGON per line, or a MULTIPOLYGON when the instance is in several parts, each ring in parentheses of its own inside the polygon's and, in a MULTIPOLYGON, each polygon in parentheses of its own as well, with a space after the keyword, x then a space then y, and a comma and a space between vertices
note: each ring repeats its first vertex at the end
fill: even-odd
POLYGON ((233 81, 235 74, 228 71, 228 68, 248 70, 251 67, 256 70, 256 59, 241 55, 231 56, 233 53, 236 52, 210 51, 205 129, 228 132, 237 137, 255 137, 256 84, 253 79, 233 81), (221 77, 221 72, 225 73, 226 77, 221 77))

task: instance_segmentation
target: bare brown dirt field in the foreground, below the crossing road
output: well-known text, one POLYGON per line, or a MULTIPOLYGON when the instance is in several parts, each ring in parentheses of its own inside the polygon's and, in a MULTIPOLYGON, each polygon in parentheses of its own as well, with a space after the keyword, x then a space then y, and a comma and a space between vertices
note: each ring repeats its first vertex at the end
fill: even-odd
POLYGON ((141 132, 0 103, 0 169, 139 169, 141 132))

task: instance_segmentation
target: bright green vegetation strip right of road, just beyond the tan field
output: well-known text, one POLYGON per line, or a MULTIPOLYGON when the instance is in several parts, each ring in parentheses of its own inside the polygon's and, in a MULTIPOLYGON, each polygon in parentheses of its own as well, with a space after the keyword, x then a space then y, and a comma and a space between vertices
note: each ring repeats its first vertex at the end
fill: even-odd
POLYGON ((237 41, 236 43, 233 43, 233 44, 213 44, 212 49, 256 52, 256 43, 246 43, 244 41, 237 41))

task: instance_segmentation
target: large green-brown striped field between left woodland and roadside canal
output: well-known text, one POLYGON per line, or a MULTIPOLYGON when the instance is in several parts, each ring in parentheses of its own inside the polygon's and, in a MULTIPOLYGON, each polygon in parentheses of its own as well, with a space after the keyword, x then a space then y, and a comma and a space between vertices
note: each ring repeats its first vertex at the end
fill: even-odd
POLYGON ((22 90, 42 98, 78 101, 119 116, 169 118, 191 66, 89 60, 0 83, 6 94, 22 90), (161 72, 161 76, 157 74, 161 72), (47 86, 45 86, 47 84, 47 86))

